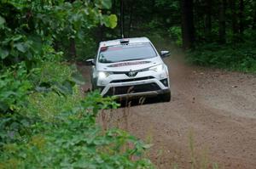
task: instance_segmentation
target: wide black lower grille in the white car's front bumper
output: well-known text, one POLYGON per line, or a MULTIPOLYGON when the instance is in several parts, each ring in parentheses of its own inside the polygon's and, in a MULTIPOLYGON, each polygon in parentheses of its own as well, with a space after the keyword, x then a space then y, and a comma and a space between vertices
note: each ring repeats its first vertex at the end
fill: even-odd
POLYGON ((152 82, 147 84, 133 85, 133 86, 125 86, 125 87, 110 87, 108 93, 104 96, 112 96, 119 94, 127 94, 127 93, 143 93, 160 90, 160 87, 152 82))

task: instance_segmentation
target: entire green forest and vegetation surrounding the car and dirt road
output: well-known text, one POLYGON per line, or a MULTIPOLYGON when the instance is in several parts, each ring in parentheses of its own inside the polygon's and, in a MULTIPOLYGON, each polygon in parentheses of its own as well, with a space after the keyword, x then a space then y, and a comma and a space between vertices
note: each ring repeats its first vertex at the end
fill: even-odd
POLYGON ((82 93, 98 42, 148 37, 188 65, 256 72, 253 0, 1 0, 0 168, 155 168, 151 144, 103 130, 113 97, 82 93))

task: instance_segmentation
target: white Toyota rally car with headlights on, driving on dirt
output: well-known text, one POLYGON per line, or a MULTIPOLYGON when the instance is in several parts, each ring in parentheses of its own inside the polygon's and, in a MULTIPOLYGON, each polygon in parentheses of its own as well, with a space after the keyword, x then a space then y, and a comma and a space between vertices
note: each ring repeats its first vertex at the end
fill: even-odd
POLYGON ((169 54, 158 54, 147 37, 100 42, 96 58, 86 60, 92 65, 92 89, 100 90, 103 97, 160 96, 170 101, 168 68, 161 59, 169 54))

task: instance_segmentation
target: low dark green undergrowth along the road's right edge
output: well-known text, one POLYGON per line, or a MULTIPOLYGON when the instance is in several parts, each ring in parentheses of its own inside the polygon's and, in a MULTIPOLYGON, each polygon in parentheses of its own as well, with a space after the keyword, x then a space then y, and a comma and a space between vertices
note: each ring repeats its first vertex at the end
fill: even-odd
POLYGON ((256 72, 256 50, 250 43, 225 46, 212 43, 197 47, 187 55, 188 61, 195 65, 256 72))

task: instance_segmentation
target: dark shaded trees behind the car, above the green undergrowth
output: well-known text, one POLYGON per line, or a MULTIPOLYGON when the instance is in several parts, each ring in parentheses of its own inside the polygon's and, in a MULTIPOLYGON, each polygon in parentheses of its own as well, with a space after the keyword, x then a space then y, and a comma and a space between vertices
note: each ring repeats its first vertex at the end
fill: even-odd
POLYGON ((100 33, 97 34, 99 41, 120 37, 122 3, 125 37, 137 35, 134 31, 161 30, 171 31, 172 34, 172 31, 181 29, 183 47, 192 48, 202 42, 246 41, 256 29, 256 2, 253 0, 113 0, 112 2, 112 13, 119 16, 119 25, 114 31, 100 27, 100 33))

